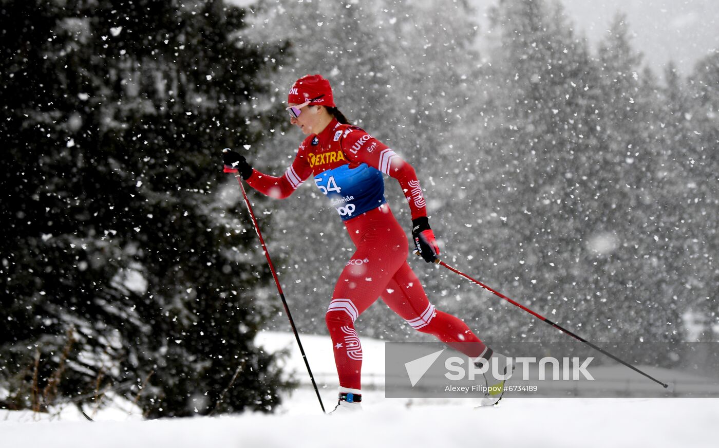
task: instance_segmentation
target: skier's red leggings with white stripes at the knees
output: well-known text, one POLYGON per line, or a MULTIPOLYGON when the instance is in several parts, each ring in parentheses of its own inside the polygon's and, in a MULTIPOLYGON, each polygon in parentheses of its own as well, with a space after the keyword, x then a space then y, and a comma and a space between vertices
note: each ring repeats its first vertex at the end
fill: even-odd
POLYGON ((419 332, 434 334, 467 356, 486 355, 485 344, 463 321, 429 303, 407 264, 407 237, 389 206, 377 207, 344 224, 357 252, 342 270, 326 314, 340 386, 361 388, 362 345, 354 321, 380 296, 419 332))

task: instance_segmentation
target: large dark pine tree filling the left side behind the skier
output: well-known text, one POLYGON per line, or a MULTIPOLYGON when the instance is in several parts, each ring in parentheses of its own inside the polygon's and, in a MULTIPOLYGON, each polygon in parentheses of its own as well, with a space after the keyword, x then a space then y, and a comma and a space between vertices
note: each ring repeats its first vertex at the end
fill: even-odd
POLYGON ((269 278, 215 186, 221 148, 271 126, 252 104, 281 49, 243 45, 221 1, 2 9, 3 406, 112 389, 153 417, 269 411, 269 278))

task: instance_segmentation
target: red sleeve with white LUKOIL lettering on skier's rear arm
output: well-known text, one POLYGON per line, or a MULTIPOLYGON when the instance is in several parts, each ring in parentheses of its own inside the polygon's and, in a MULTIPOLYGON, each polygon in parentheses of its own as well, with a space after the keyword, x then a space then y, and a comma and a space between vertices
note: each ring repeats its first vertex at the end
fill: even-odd
POLYGON ((427 207, 422 187, 417 180, 414 168, 402 160, 393 150, 379 140, 367 134, 359 127, 348 127, 342 137, 342 150, 352 163, 367 163, 397 179, 412 211, 412 219, 427 216, 427 207))

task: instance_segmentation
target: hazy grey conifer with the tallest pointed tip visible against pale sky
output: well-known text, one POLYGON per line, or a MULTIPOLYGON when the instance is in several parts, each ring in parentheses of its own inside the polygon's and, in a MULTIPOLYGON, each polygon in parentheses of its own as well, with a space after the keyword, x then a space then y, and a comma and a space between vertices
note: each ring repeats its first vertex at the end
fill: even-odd
MULTIPOLYGON (((661 145, 657 81, 641 70, 641 55, 631 48, 626 18, 615 17, 600 44, 597 103, 601 120, 599 152, 606 168, 600 178, 596 211, 602 216, 592 224, 597 232, 614 235, 616 250, 600 264, 609 273, 606 293, 614 298, 614 311, 626 316, 621 329, 634 339, 677 341, 682 338, 681 308, 676 296, 677 258, 672 246, 676 216, 667 214, 674 202, 661 198, 665 160, 661 145), (640 74, 641 72, 641 74, 640 74), (647 275, 659 270, 662 275, 647 275), (640 305, 640 306, 636 306, 640 305), (642 329, 643 334, 638 334, 642 329)), ((679 240, 680 241, 680 240, 679 240)))

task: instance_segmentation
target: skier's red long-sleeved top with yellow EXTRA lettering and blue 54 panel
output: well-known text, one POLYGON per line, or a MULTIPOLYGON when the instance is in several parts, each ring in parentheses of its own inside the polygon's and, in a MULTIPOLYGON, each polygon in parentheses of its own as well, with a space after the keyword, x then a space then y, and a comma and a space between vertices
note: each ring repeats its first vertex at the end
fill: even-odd
POLYGON ((393 150, 349 124, 333 119, 319 134, 300 145, 295 160, 281 177, 253 170, 247 183, 273 198, 286 198, 310 175, 343 221, 385 204, 381 173, 398 180, 412 211, 412 219, 426 216, 426 204, 411 165, 393 150))

